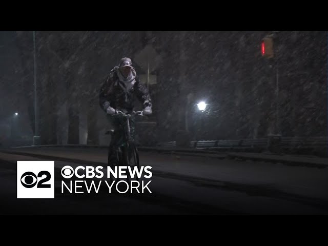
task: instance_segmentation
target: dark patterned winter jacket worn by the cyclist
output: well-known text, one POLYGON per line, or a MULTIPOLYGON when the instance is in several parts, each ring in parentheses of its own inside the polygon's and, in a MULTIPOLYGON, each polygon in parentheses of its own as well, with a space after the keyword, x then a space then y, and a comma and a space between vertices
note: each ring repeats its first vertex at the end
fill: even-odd
POLYGON ((121 82, 115 71, 111 72, 101 86, 99 93, 99 105, 106 112, 104 103, 108 101, 110 106, 117 110, 126 109, 131 112, 134 108, 133 99, 136 98, 143 105, 152 107, 151 98, 147 87, 141 84, 139 77, 135 77, 135 83, 128 87, 121 82))

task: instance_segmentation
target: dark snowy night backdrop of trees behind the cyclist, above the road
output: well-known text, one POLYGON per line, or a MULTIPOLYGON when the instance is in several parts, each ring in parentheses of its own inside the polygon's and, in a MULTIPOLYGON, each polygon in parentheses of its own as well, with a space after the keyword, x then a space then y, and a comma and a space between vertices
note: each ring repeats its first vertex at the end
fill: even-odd
MULTIPOLYGON (((100 86, 122 57, 130 57, 137 73, 146 74, 134 59, 150 46, 157 53, 151 61, 156 84, 149 86, 153 115, 137 125, 140 145, 177 140, 186 129, 190 140, 274 133, 326 137, 327 32, 278 33, 277 124, 276 70, 260 53, 268 33, 36 31, 40 144, 108 145, 104 133, 110 127, 98 104, 100 86), (200 100, 208 104, 204 112, 196 108, 200 100)), ((0 142, 31 145, 32 31, 0 32, 0 65, 0 142)))

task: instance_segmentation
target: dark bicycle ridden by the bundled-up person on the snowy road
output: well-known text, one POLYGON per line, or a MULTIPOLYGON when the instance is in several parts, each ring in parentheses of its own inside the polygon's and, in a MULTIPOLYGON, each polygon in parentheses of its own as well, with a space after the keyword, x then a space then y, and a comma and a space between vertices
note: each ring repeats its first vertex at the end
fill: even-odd
MULTIPOLYGON (((107 131, 105 134, 110 134, 113 138, 114 134, 119 134, 119 139, 116 142, 116 160, 118 160, 118 165, 117 166, 127 166, 127 167, 131 167, 131 170, 133 171, 133 168, 136 166, 137 169, 139 170, 140 166, 139 166, 139 154, 138 154, 138 149, 134 143, 134 139, 132 139, 131 137, 131 129, 130 129, 130 118, 133 115, 141 115, 144 116, 142 114, 142 111, 133 111, 132 114, 125 114, 122 111, 118 111, 116 110, 116 113, 113 114, 112 116, 124 116, 126 118, 126 120, 124 120, 124 123, 122 125, 120 125, 120 128, 118 129, 117 132, 115 132, 114 130, 110 130, 107 131), (124 134, 122 134, 124 133, 124 134), (131 165, 131 159, 133 159, 134 162, 134 166, 132 167, 131 165)), ((111 151, 111 146, 109 146, 108 148, 108 166, 112 168, 112 170, 114 170, 115 166, 113 165, 113 163, 110 161, 110 151, 111 151)), ((130 173, 129 170, 126 170, 126 175, 127 175, 127 181, 130 182, 131 181, 131 177, 130 177, 130 173)), ((134 180, 138 180, 138 176, 134 175, 134 180)), ((117 180, 119 180, 119 178, 117 177, 117 180)), ((110 182, 114 181, 114 177, 113 175, 110 175, 110 182)))

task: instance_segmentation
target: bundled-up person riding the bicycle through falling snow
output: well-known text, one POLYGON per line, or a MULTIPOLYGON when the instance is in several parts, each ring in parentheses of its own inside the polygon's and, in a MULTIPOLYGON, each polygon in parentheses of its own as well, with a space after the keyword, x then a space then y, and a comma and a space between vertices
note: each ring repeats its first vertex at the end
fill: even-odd
MULTIPOLYGON (((142 114, 152 114, 152 103, 148 89, 140 83, 139 77, 128 57, 120 59, 105 79, 99 93, 99 105, 103 109, 114 128, 109 146, 110 162, 116 163, 117 141, 122 132, 120 126, 125 118, 117 117, 117 110, 131 114, 134 109, 134 99, 138 99, 143 106, 142 114)), ((134 120, 130 118, 131 137, 134 138, 134 120)))

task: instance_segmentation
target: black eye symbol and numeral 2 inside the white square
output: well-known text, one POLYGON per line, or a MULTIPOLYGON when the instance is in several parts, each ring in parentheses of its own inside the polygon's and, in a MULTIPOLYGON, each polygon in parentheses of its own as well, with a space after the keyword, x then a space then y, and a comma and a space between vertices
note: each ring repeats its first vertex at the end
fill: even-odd
POLYGON ((45 184, 45 182, 49 181, 50 178, 51 178, 51 174, 48 171, 41 171, 37 174, 37 176, 32 172, 26 172, 23 173, 20 182, 22 183, 22 186, 24 186, 25 188, 33 188, 36 185, 36 183, 37 183, 36 188, 51 188, 50 183, 45 184), (46 177, 37 181, 37 178, 42 178, 43 175, 46 175, 46 177))

